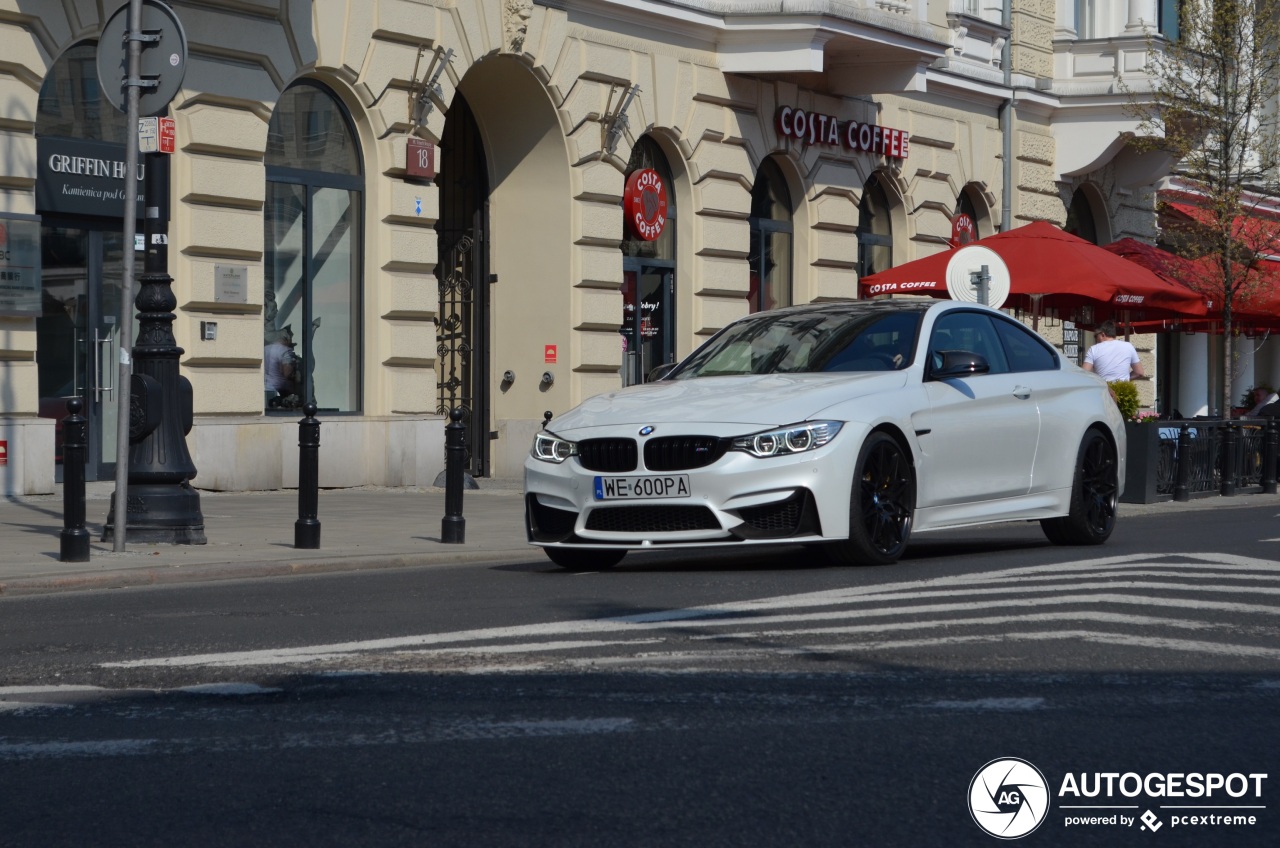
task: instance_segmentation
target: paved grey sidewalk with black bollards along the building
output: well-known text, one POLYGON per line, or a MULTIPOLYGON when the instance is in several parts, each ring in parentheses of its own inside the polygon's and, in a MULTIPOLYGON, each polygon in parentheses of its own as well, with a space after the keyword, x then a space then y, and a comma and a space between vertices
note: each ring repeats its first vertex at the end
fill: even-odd
MULTIPOLYGON (((466 542, 440 542, 444 489, 357 488, 320 492, 320 550, 293 547, 296 489, 201 492, 207 544, 101 542, 114 483, 91 483, 88 562, 59 560, 61 487, 54 494, 0 500, 0 594, 274 576, 457 562, 547 562, 525 541, 520 480, 481 480, 463 494, 466 542)), ((1121 503, 1120 520, 1156 512, 1271 503, 1280 494, 1204 497, 1184 503, 1121 503)))

